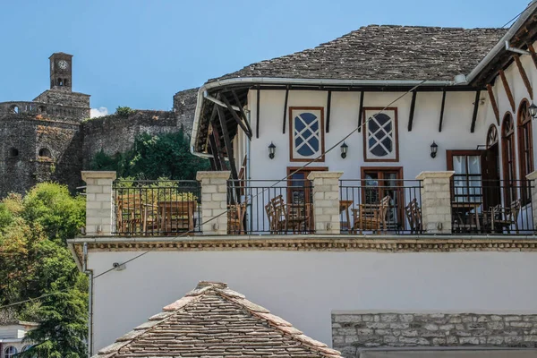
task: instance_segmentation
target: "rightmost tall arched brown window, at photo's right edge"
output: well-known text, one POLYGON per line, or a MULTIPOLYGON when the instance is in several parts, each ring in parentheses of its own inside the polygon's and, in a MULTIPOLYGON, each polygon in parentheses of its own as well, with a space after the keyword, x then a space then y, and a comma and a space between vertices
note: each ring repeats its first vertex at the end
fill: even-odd
MULTIPOLYGON (((518 127, 518 164, 520 166, 520 180, 525 183, 526 175, 533 172, 533 132, 532 115, 530 115, 530 104, 527 99, 523 99, 518 107, 517 115, 518 127)), ((532 200, 532 194, 528 185, 521 185, 522 205, 532 200)))

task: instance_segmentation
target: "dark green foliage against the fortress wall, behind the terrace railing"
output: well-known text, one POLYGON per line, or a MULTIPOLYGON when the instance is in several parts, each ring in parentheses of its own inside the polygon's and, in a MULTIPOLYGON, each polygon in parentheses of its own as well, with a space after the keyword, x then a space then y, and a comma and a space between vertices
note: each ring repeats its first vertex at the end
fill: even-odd
POLYGON ((175 133, 139 135, 131 150, 115 156, 99 152, 91 161, 92 170, 115 170, 118 177, 140 180, 193 180, 200 170, 209 170, 209 161, 190 152, 183 129, 175 133))

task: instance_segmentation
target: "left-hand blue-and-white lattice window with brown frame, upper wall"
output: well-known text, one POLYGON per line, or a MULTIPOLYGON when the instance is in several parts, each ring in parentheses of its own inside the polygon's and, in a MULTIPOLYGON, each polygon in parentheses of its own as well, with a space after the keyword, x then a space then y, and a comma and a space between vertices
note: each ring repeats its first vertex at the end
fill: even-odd
POLYGON ((291 160, 317 158, 324 148, 323 108, 291 107, 291 160))

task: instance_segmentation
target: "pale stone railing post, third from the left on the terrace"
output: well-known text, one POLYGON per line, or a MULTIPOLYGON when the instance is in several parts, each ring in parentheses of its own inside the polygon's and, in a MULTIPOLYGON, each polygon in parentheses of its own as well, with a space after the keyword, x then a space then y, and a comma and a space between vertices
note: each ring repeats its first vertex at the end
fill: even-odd
POLYGON ((340 234, 339 178, 343 172, 311 172, 316 234, 340 234))

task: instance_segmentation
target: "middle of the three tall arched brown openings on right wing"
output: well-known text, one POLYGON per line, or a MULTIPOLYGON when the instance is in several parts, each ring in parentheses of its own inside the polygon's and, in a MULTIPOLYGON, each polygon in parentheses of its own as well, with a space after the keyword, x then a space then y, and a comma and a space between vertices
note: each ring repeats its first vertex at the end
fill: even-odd
POLYGON ((503 179, 505 205, 516 200, 515 123, 509 112, 501 124, 501 151, 503 157, 503 179))

